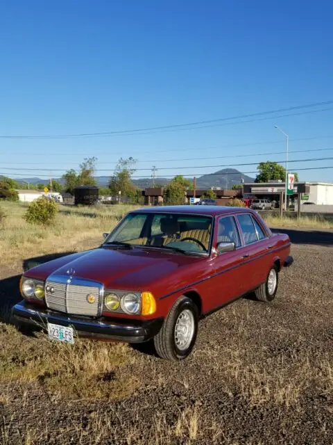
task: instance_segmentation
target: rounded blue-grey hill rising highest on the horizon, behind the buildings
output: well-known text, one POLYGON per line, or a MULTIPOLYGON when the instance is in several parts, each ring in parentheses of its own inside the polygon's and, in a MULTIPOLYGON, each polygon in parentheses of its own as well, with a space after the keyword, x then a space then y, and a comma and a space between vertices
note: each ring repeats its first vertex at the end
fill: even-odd
POLYGON ((241 184, 241 180, 244 182, 254 182, 255 179, 250 176, 244 175, 235 168, 223 168, 214 172, 214 175, 203 175, 198 177, 196 184, 198 188, 232 188, 235 184, 241 184))

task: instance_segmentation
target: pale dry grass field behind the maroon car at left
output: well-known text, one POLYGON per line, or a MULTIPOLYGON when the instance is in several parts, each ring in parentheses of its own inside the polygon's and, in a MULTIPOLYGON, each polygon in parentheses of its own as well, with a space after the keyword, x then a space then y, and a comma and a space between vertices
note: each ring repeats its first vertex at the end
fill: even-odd
POLYGON ((9 270, 21 268, 26 258, 92 248, 102 241, 103 232, 110 232, 119 218, 135 208, 105 206, 96 211, 60 206, 56 222, 45 229, 29 225, 22 218, 27 204, 3 202, 2 207, 8 218, 1 229, 0 264, 9 270))

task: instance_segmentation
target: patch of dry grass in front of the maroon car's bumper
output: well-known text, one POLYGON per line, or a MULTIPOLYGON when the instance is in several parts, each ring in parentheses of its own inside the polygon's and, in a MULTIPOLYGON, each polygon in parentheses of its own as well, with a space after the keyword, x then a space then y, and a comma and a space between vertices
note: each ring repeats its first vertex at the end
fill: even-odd
POLYGON ((122 398, 139 385, 135 375, 123 378, 133 360, 122 343, 76 339, 73 345, 49 341, 44 334, 22 337, 1 325, 0 381, 39 382, 53 394, 74 398, 122 398))

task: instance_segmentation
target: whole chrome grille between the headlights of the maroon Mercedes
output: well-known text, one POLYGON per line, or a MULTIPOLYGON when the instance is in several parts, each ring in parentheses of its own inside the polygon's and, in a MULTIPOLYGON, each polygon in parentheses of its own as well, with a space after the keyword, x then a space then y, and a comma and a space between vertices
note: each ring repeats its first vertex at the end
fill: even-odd
POLYGON ((103 286, 99 286, 96 282, 91 284, 76 277, 67 283, 67 277, 51 275, 51 280, 45 284, 46 305, 49 309, 65 314, 99 316, 103 286), (49 287, 53 288, 53 292, 46 290, 49 287), (89 295, 94 296, 92 302, 87 299, 89 295))

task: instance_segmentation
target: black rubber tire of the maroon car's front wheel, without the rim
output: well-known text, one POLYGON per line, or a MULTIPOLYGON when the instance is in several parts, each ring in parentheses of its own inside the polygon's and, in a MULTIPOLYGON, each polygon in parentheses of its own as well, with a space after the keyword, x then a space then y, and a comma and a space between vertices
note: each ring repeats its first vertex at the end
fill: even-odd
POLYGON ((198 307, 194 304, 190 298, 181 296, 171 307, 169 314, 164 319, 163 325, 154 337, 154 346, 157 355, 162 359, 178 361, 185 359, 191 353, 196 342, 196 335, 198 333, 198 307), (190 311, 193 316, 194 332, 191 337, 189 345, 185 349, 180 349, 177 346, 175 331, 176 324, 180 314, 184 314, 185 311, 190 311))

